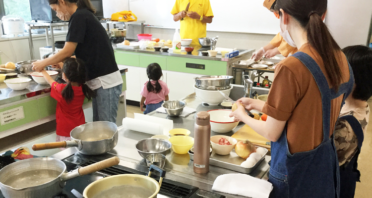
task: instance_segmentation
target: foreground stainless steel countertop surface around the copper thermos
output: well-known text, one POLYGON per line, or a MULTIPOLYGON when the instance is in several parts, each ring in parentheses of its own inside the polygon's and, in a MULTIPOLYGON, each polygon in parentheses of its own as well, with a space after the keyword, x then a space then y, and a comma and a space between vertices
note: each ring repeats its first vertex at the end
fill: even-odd
MULTIPOLYGON (((187 103, 188 107, 195 108, 197 111, 207 111, 212 109, 218 109, 219 106, 204 106, 201 104, 201 100, 199 100, 194 94, 186 97, 184 99, 187 103)), ((174 122, 174 128, 185 128, 190 130, 190 136, 194 136, 194 121, 195 115, 191 114, 185 118, 183 117, 168 117, 167 114, 152 112, 149 115, 171 119, 174 122)), ((236 131, 238 131, 243 124, 238 125, 233 132, 224 134, 231 136, 236 131)), ((211 136, 217 135, 212 131, 211 136)), ((135 149, 135 144, 142 139, 150 138, 152 135, 140 133, 131 130, 119 130, 119 141, 118 145, 111 151, 106 154, 100 155, 101 159, 105 159, 111 156, 118 156, 121 159, 120 165, 137 169, 137 170, 145 170, 147 168, 146 161, 143 159, 135 149)), ((55 157, 58 159, 63 159, 76 151, 76 148, 68 148, 63 150, 51 157, 55 157)), ((86 157, 86 155, 84 155, 86 157)), ((171 151, 167 156, 167 160, 165 163, 165 170, 166 178, 178 182, 182 182, 188 185, 196 186, 200 189, 212 191, 212 186, 214 180, 222 174, 229 174, 229 173, 238 173, 232 170, 228 170, 221 167, 210 166, 209 173, 207 174, 196 174, 193 172, 193 163, 190 161, 190 157, 188 154, 177 154, 171 151)), ((265 159, 259 164, 259 166, 249 175, 252 177, 256 177, 263 180, 268 180, 267 173, 269 170, 268 161, 271 159, 271 156, 266 156, 265 159)), ((225 195, 228 198, 243 198, 242 196, 235 196, 230 194, 223 194, 220 192, 215 192, 218 194, 225 195)))

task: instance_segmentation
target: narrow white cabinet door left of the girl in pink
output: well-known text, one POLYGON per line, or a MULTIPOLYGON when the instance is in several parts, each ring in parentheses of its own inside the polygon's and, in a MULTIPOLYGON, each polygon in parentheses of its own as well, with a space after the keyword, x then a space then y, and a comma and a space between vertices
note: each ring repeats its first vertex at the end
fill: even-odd
POLYGON ((139 67, 125 66, 128 68, 126 76, 126 99, 140 101, 140 69, 139 67))

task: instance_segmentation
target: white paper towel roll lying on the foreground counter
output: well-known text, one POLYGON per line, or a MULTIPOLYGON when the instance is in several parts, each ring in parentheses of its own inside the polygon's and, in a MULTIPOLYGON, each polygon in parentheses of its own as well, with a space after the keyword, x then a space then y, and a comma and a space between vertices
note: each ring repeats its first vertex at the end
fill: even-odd
POLYGON ((163 135, 164 127, 161 124, 143 121, 133 118, 124 118, 123 119, 124 129, 129 129, 132 131, 138 131, 142 133, 152 134, 152 135, 163 135))

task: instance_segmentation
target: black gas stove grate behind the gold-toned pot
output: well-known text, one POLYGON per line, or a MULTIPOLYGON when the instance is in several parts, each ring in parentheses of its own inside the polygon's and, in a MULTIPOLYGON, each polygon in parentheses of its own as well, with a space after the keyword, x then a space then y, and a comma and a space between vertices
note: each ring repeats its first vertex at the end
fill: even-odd
MULTIPOLYGON (((93 164, 93 163, 96 163, 96 162, 90 160, 90 161, 87 161, 87 162, 81 164, 80 166, 85 167, 85 166, 88 166, 88 165, 93 164)), ((101 173, 101 174, 104 174, 104 175, 108 175, 108 176, 120 175, 120 174, 140 174, 140 175, 146 175, 147 174, 147 173, 144 173, 144 172, 141 172, 141 171, 136 171, 136 170, 127 171, 127 170, 123 170, 123 169, 120 169, 120 168, 117 168, 117 167, 106 168, 106 169, 100 170, 98 172, 101 173)), ((159 180, 157 180, 157 181, 159 181, 159 180)), ((168 182, 168 181, 170 181, 170 180, 167 180, 167 179, 163 180, 162 185, 160 187, 160 191, 159 191, 160 194, 166 195, 166 196, 171 196, 172 198, 189 198, 197 190, 197 189, 188 189, 188 188, 185 188, 185 187, 182 187, 182 186, 179 186, 179 185, 175 185, 175 184, 172 184, 172 183, 176 183, 176 182, 172 181, 172 183, 171 183, 171 182, 168 182)))

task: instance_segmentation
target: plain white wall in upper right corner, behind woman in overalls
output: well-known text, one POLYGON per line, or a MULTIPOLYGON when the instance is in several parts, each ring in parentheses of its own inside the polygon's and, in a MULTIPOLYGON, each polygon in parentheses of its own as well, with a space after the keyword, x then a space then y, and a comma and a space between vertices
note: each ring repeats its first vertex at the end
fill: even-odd
POLYGON ((372 0, 328 0, 326 24, 341 48, 366 45, 372 0))

